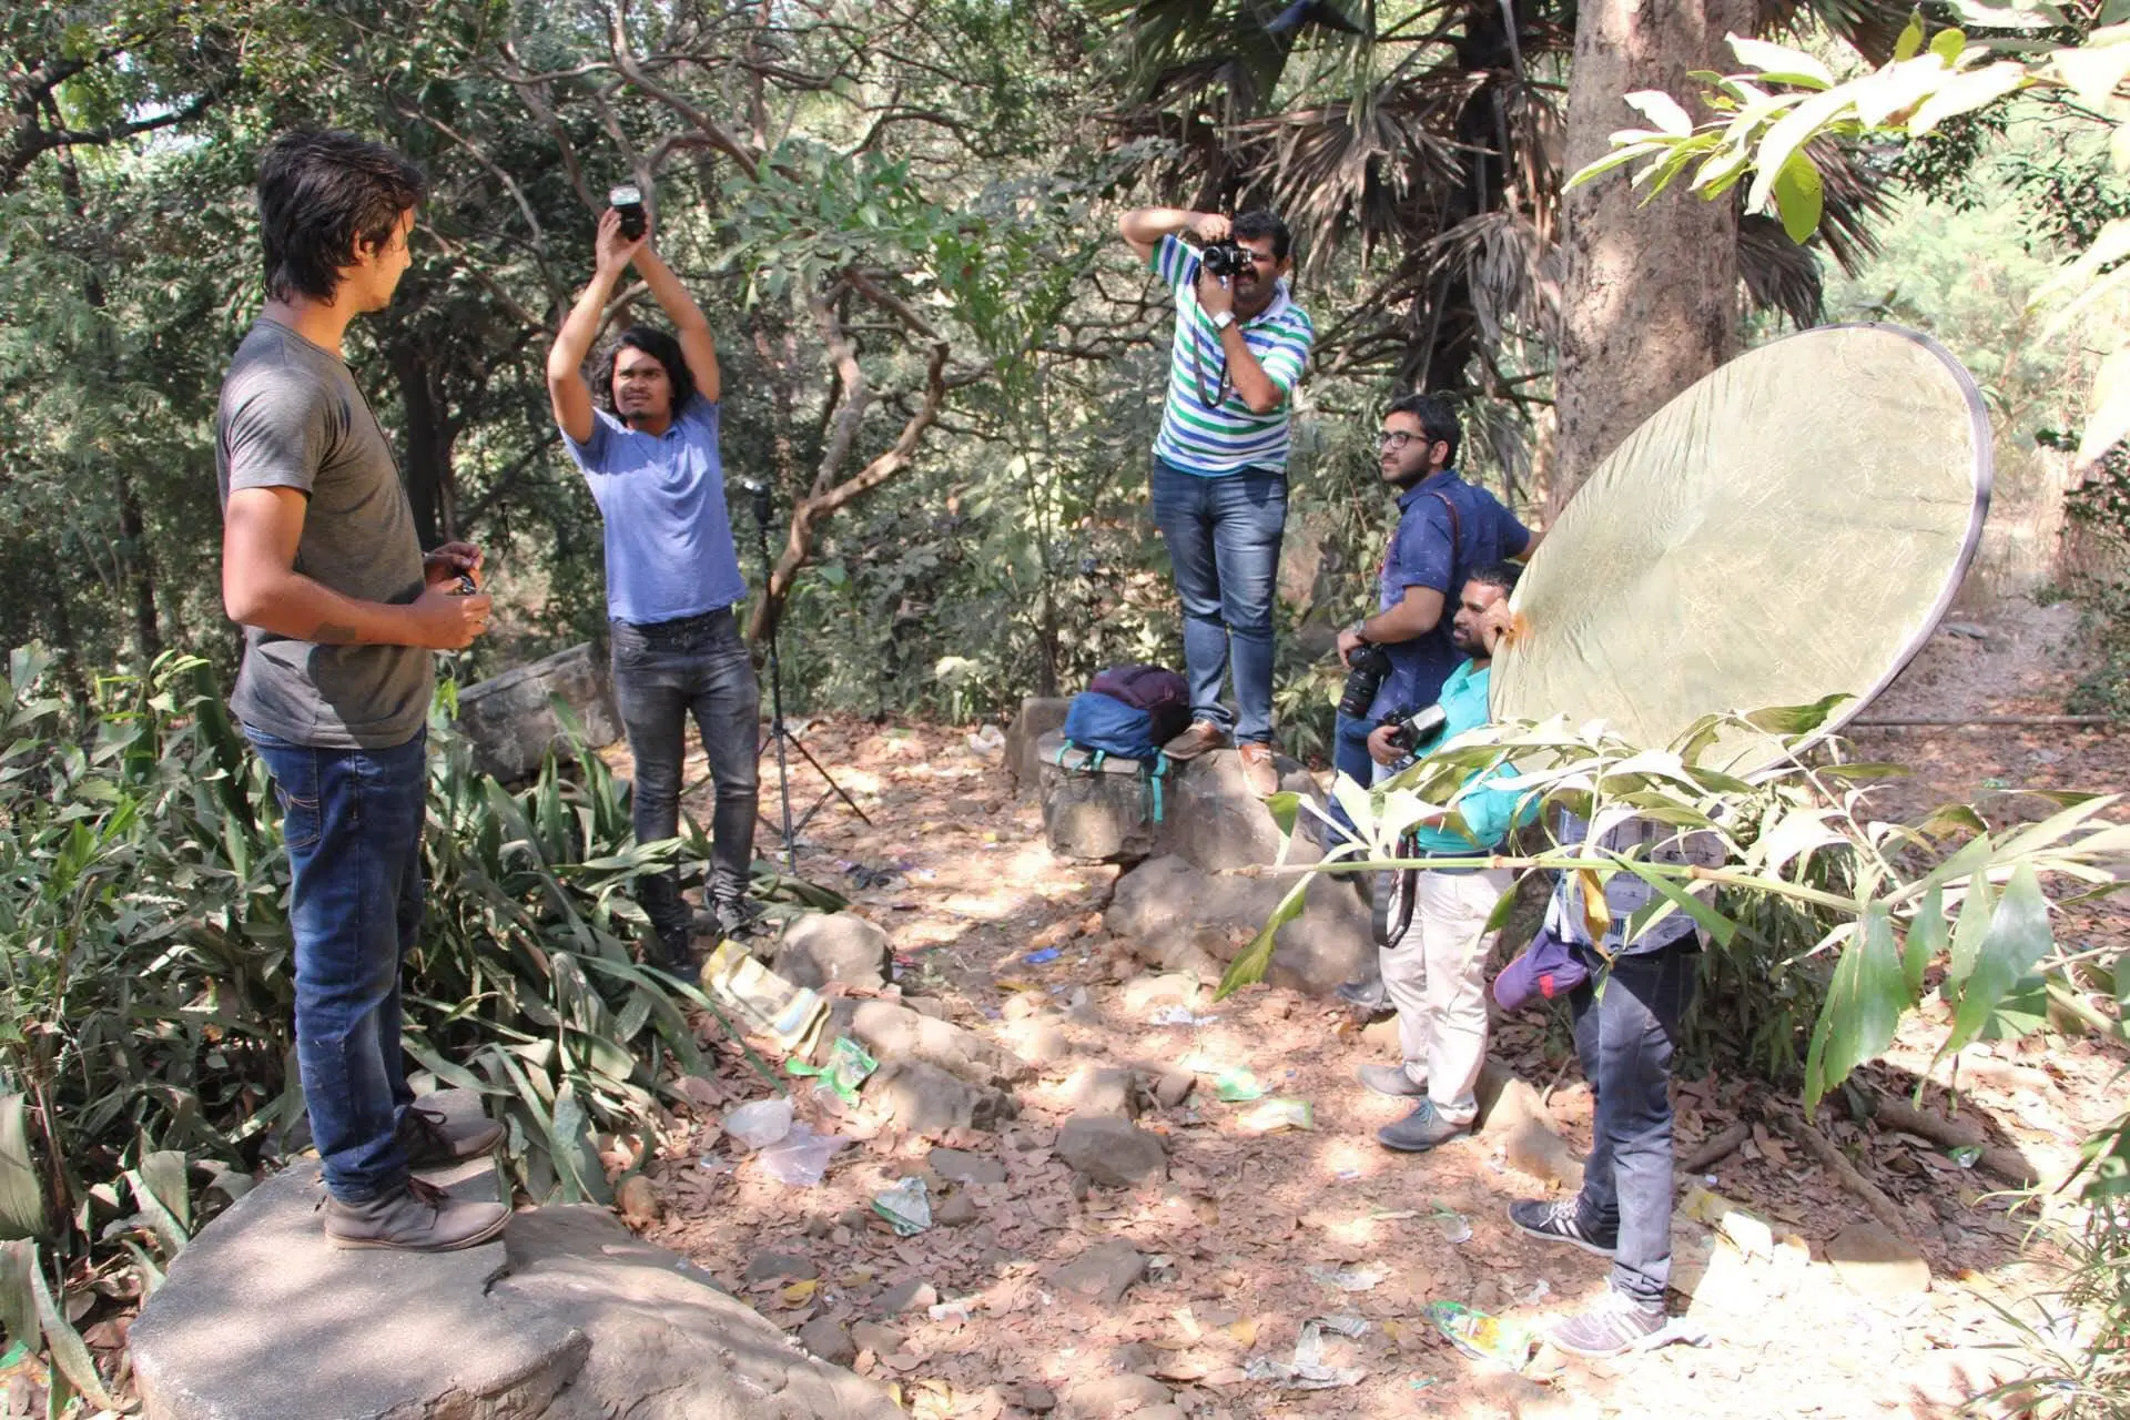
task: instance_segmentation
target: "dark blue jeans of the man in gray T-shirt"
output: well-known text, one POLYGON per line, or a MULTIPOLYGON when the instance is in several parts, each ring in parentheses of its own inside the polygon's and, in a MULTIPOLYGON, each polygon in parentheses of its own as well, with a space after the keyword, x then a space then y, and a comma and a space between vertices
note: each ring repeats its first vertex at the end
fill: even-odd
POLYGON ((326 1190, 366 1203, 407 1182, 398 1122, 400 967, 422 926, 428 732, 324 749, 245 728, 273 775, 296 939, 296 1067, 326 1190))

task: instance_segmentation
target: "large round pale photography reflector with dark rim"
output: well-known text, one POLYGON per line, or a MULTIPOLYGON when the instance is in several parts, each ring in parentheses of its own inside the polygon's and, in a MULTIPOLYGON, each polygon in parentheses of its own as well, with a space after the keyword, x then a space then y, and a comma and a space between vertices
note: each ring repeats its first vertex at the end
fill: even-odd
MULTIPOLYGON (((1936 341, 1825 326, 1753 349, 1644 419, 1546 528, 1493 713, 1661 747, 1715 711, 1855 696, 1832 732, 1945 615, 1989 479, 1981 392, 1936 341)), ((1740 726, 1700 762, 1779 754, 1740 726)))

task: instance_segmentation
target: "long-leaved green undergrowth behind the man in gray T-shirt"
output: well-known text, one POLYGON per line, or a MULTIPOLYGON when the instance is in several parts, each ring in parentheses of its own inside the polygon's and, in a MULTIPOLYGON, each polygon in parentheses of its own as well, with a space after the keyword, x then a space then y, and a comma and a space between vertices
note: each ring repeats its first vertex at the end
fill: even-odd
MULTIPOLYGON (((164 656, 75 724, 49 668, 17 649, 0 683, 0 1320, 43 1328, 94 1399, 51 1299, 153 1290, 217 1199, 294 1152, 302 1094, 285 856, 215 677, 164 656)), ((701 1069, 686 1011, 707 1003, 628 960, 628 884, 682 845, 630 841, 594 756, 511 794, 435 734, 409 1052, 490 1096, 524 1192, 603 1199, 590 1137, 654 1135, 660 1079, 701 1069)))

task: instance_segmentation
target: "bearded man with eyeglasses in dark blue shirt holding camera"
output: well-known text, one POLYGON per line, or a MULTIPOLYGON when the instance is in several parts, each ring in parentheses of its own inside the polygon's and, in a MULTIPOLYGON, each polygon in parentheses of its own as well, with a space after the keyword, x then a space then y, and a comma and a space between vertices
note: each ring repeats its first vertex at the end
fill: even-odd
MULTIPOLYGON (((1342 662, 1363 643, 1380 645, 1391 660, 1367 715, 1338 717, 1331 762, 1357 783, 1374 777, 1370 730, 1399 707, 1433 705, 1463 662, 1444 615, 1455 609, 1451 590, 1463 588, 1476 568, 1529 558, 1538 547, 1540 534, 1517 522, 1485 488, 1457 477, 1459 443, 1457 411, 1438 394, 1408 394, 1382 415, 1378 466, 1382 481, 1397 492, 1397 530, 1382 554, 1376 613, 1338 634, 1342 662)), ((1344 813, 1338 818, 1344 822, 1344 813)), ((1370 1013, 1389 1009, 1382 979, 1374 973, 1346 981, 1338 994, 1370 1013)), ((1408 1081, 1384 1092, 1419 1090, 1408 1081)))

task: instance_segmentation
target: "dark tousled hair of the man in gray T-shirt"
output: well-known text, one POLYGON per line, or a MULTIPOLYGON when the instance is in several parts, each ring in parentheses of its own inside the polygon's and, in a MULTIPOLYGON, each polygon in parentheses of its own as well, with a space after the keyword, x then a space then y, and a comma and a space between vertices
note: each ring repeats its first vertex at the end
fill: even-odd
POLYGON ((422 170, 381 143, 341 132, 281 134, 260 155, 266 294, 332 300, 341 270, 362 249, 392 241, 426 189, 422 170))

